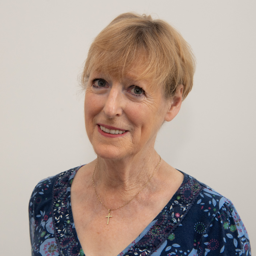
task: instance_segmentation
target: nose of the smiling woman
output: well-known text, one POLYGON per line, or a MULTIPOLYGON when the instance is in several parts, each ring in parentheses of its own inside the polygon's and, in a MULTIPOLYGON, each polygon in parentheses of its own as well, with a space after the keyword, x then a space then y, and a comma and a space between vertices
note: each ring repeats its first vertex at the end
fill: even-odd
POLYGON ((112 86, 103 108, 105 115, 109 118, 121 116, 123 110, 122 102, 122 91, 118 86, 112 86))

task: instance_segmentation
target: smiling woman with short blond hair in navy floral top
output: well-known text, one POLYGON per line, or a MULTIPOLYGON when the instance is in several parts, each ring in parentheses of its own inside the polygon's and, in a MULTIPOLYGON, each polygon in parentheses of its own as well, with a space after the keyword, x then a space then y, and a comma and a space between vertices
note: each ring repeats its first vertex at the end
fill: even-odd
POLYGON ((154 150, 194 70, 189 45, 163 20, 125 13, 100 32, 82 75, 97 158, 35 187, 32 255, 250 254, 233 204, 154 150))

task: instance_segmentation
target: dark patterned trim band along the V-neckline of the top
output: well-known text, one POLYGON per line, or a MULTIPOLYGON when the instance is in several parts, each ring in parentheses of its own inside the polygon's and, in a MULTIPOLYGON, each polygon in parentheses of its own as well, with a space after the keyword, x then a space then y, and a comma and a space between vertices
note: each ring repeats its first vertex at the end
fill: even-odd
MULTIPOLYGON (((62 227, 64 225, 65 218, 63 215, 57 214, 58 207, 54 207, 56 205, 56 200, 60 199, 60 200, 57 200, 57 201, 59 201, 59 202, 57 202, 57 206, 59 205, 59 203, 63 204, 63 207, 64 207, 64 205, 66 205, 68 213, 65 215, 65 217, 68 218, 68 220, 66 220, 65 223, 69 223, 70 229, 72 230, 72 232, 68 232, 69 235, 67 236, 68 237, 67 241, 72 243, 73 253, 75 253, 75 251, 77 252, 76 254, 72 254, 72 255, 84 256, 84 252, 82 250, 79 238, 76 233, 76 227, 75 227, 74 220, 73 220, 73 212, 72 212, 71 201, 70 201, 71 184, 72 184, 73 178, 75 177, 76 173, 78 172, 78 170, 81 167, 82 166, 79 166, 76 169, 72 169, 72 172, 70 172, 70 173, 63 173, 62 177, 60 177, 61 175, 59 175, 59 179, 62 178, 60 184, 61 184, 61 186, 63 186, 63 189, 59 189, 59 188, 57 189, 55 186, 54 191, 56 190, 55 191, 56 193, 54 192, 55 202, 53 203, 53 211, 55 212, 55 215, 56 215, 55 216, 55 226, 56 226, 56 229, 58 230, 58 227, 62 227), (63 193, 65 192, 64 191, 65 189, 66 189, 66 193, 64 196, 63 193), (61 192, 62 195, 58 198, 57 194, 60 190, 62 191, 61 192), (56 195, 57 195, 57 197, 56 197, 56 195), (61 198, 63 198, 63 199, 61 199, 61 198), (73 237, 71 237, 72 236, 71 233, 73 234, 73 237)), ((181 172, 181 171, 179 171, 179 172, 181 172)), ((180 224, 180 222, 185 217, 187 211, 190 209, 192 204, 188 205, 186 203, 184 204, 179 201, 180 201, 182 195, 184 194, 183 193, 184 187, 185 187, 185 190, 191 189, 191 187, 193 187, 193 186, 190 186, 191 184, 189 184, 189 182, 192 183, 194 180, 194 179, 192 179, 192 177, 190 177, 186 173, 184 173, 184 172, 181 172, 181 173, 184 175, 183 182, 181 183, 180 187, 177 189, 175 194, 172 196, 172 198, 169 200, 169 202, 166 204, 166 206, 158 213, 158 215, 154 218, 154 220, 148 224, 148 226, 143 230, 143 232, 140 233, 140 235, 131 244, 129 244, 124 250, 122 250, 122 252, 119 253, 120 256, 124 255, 124 254, 129 255, 129 256, 130 255, 135 256, 135 255, 137 255, 136 251, 139 251, 139 250, 141 251, 141 249, 143 249, 143 248, 144 248, 143 250, 148 250, 147 254, 150 255, 153 250, 156 250, 163 243, 163 239, 160 238, 161 234, 159 234, 160 237, 157 237, 154 233, 154 230, 157 228, 157 230, 163 230, 164 234, 166 234, 166 232, 168 234, 168 233, 171 233, 172 230, 174 230, 174 228, 178 224, 180 224), (177 216, 180 216, 180 218, 177 216), (157 240, 157 242, 156 242, 156 240, 157 240)), ((190 193, 191 195, 193 195, 193 198, 189 198, 190 201, 191 200, 195 201, 195 198, 199 195, 202 188, 199 185, 198 187, 195 187, 194 189, 195 189, 195 192, 190 193)), ((184 198, 182 200, 184 201, 184 198)), ((186 200, 185 200, 185 202, 186 202, 186 200)), ((69 230, 69 231, 71 231, 71 230, 69 230)), ((61 233, 61 235, 59 237, 61 239, 61 241, 64 240, 66 233, 61 233)), ((58 239, 57 234, 56 234, 56 238, 58 239)), ((63 244, 63 242, 60 242, 59 244, 60 244, 60 247, 62 247, 61 245, 63 244)), ((64 247, 66 247, 66 245, 63 246, 63 249, 64 249, 64 247)))

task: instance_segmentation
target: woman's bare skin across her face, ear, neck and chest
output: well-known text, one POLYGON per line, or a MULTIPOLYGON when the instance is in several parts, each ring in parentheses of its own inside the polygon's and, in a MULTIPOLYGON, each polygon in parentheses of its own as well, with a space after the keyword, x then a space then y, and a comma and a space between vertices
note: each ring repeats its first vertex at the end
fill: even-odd
POLYGON ((93 71, 87 84, 85 126, 97 160, 81 167, 71 186, 73 218, 86 256, 118 255, 165 207, 183 181, 183 175, 162 160, 140 195, 112 211, 106 225, 108 209, 96 198, 92 184, 95 166, 96 191, 107 207, 120 207, 131 200, 159 163, 154 150, 157 132, 164 121, 177 115, 182 102, 183 85, 167 100, 161 87, 156 90, 150 81, 140 80, 137 70, 122 81, 93 71), (107 137, 99 123, 125 133, 107 137))

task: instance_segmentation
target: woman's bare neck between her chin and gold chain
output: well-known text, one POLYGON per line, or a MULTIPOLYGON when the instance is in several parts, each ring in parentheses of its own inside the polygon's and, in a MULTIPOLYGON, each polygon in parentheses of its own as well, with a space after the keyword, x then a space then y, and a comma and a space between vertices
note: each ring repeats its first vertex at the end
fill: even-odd
POLYGON ((120 195, 129 200, 148 182, 159 161, 155 150, 146 157, 141 154, 119 160, 98 157, 94 174, 96 190, 102 195, 120 195))

